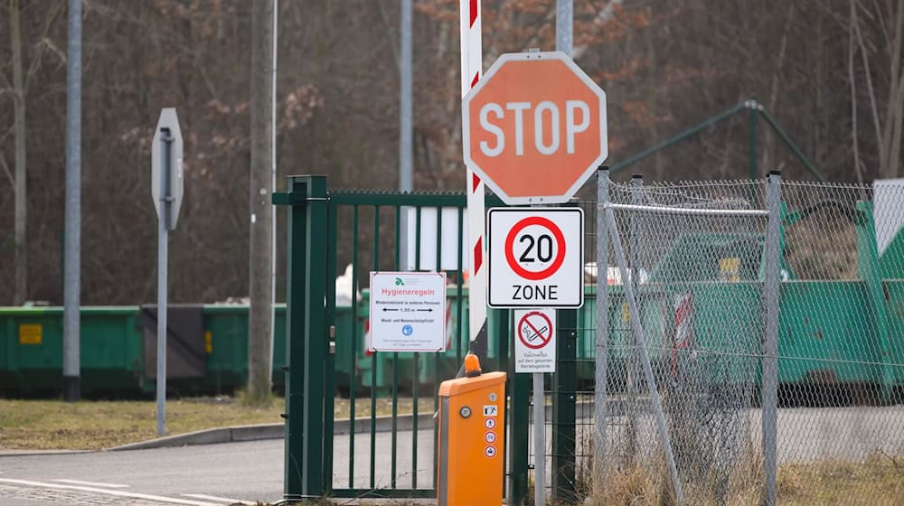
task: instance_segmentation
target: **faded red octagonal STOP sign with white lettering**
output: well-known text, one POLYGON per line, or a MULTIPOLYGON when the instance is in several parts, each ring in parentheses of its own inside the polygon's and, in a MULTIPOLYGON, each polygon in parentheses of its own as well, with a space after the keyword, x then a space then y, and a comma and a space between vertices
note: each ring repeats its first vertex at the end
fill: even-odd
POLYGON ((507 204, 569 201, 606 159, 606 92, 563 52, 504 54, 462 102, 465 164, 507 204))

